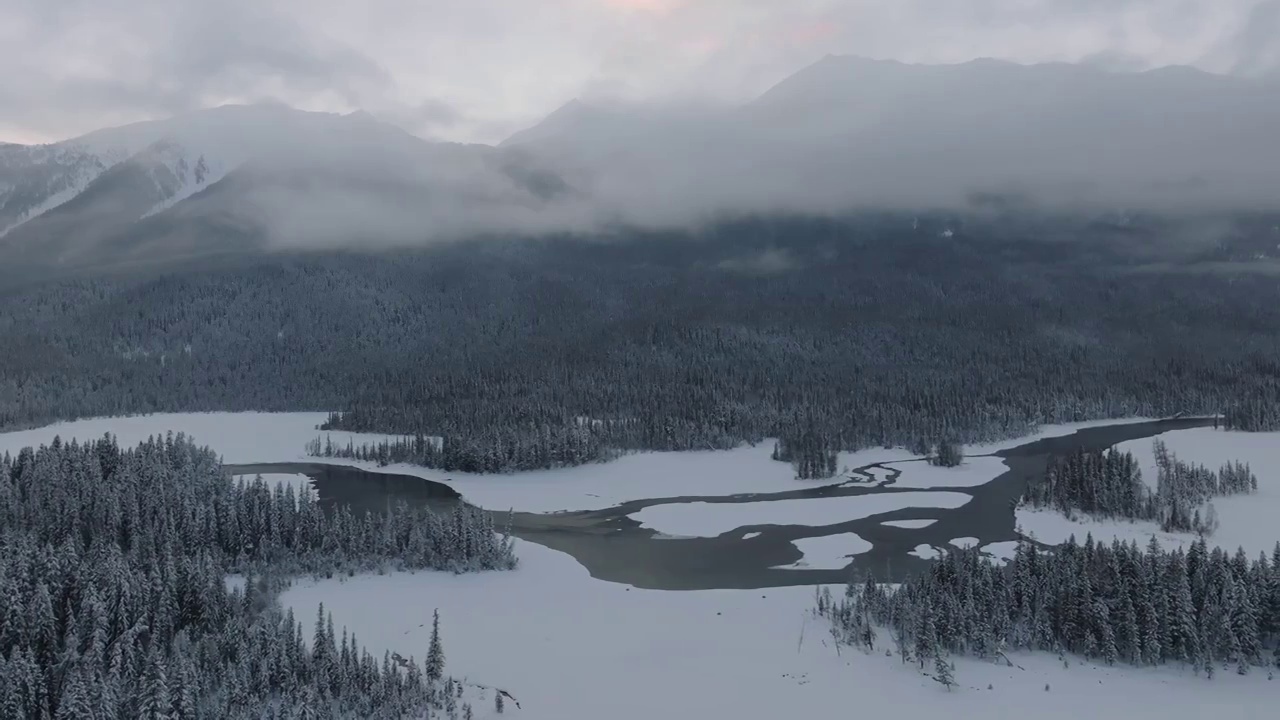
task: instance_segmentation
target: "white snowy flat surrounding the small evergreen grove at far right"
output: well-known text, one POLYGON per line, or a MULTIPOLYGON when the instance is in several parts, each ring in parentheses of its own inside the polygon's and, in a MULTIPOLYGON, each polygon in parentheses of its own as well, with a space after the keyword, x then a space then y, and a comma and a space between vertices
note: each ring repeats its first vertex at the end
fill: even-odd
MULTIPOLYGON (((1249 557, 1258 552, 1270 553, 1280 541, 1280 433, 1242 433, 1192 428, 1157 436, 1169 451, 1184 462, 1204 465, 1217 470, 1231 461, 1247 462, 1258 477, 1258 492, 1213 498, 1219 528, 1208 538, 1210 546, 1235 552, 1243 547, 1249 557)), ((1152 452, 1155 438, 1123 442, 1116 446, 1133 452, 1142 469, 1143 480, 1155 488, 1156 459, 1152 452)), ((1135 539, 1146 543, 1152 536, 1165 547, 1188 546, 1196 541, 1190 533, 1165 533, 1156 523, 1129 523, 1126 520, 1094 520, 1082 515, 1071 521, 1057 512, 1018 511, 1018 523, 1024 533, 1036 533, 1041 542, 1065 542, 1070 534, 1084 542, 1087 533, 1094 541, 1111 542, 1135 539)))

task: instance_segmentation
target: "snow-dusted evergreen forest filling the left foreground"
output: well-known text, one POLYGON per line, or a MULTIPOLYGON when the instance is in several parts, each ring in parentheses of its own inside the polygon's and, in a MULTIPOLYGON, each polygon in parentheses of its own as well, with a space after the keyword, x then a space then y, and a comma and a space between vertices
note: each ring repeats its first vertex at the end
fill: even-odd
POLYGON ((232 483, 182 436, 0 459, 0 716, 5 720, 470 716, 421 660, 372 657, 320 607, 310 646, 275 602, 300 570, 508 569, 486 516, 321 512, 232 483), (228 589, 227 574, 248 577, 228 589))

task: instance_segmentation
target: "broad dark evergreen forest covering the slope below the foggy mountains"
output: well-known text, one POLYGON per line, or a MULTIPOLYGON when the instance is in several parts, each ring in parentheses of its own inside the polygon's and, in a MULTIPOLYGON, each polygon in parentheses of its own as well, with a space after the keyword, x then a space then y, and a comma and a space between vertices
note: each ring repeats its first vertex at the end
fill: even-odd
POLYGON ((776 218, 12 287, 0 427, 340 409, 333 428, 443 437, 456 469, 813 428, 823 446, 805 468, 822 473, 836 445, 974 443, 1091 418, 1240 407, 1261 429, 1280 406, 1266 400, 1280 397, 1280 288, 1170 269, 1179 232, 776 218))

